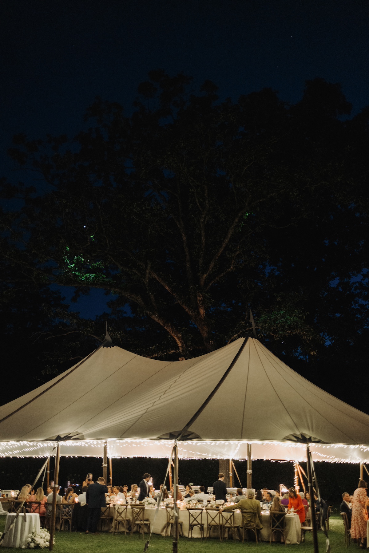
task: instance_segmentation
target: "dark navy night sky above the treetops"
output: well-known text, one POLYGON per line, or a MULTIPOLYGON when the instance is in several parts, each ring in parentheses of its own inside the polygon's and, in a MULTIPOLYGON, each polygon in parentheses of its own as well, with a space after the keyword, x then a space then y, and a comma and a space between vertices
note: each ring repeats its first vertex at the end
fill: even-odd
MULTIPOLYGON (((298 101, 305 79, 341 82, 369 104, 367 0, 11 0, 0 5, 0 175, 14 133, 74 134, 96 95, 131 109, 151 69, 211 79, 222 97, 272 87, 298 101)), ((83 298, 82 314, 105 296, 83 298)))

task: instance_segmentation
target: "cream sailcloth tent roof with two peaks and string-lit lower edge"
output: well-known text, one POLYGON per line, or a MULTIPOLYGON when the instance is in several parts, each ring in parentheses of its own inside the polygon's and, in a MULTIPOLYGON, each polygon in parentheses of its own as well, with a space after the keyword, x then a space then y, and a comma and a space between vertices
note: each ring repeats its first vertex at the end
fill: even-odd
POLYGON ((176 434, 237 361, 179 442, 183 458, 369 461, 369 416, 294 372, 256 338, 185 361, 101 347, 0 407, 0 456, 167 457, 176 434), (242 346, 243 349, 242 349, 242 346), (261 403, 261 398, 265 399, 261 403), (264 406, 264 407, 263 407, 264 406))

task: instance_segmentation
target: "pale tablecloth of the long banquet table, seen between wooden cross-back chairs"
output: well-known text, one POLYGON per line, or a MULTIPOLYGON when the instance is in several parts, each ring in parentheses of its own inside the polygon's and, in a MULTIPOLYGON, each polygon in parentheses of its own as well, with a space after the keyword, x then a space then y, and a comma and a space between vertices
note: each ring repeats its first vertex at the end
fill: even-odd
MULTIPOLYGON (((114 515, 114 509, 115 507, 110 508, 110 515, 113 517, 114 515)), ((119 507, 118 507, 119 509, 119 507)), ((152 507, 146 507, 145 508, 145 518, 150 521, 150 523, 154 524, 154 517, 155 517, 155 510, 156 508, 152 507)), ((242 524, 242 515, 240 511, 235 511, 235 525, 241 525, 242 524)), ((131 508, 128 507, 127 509, 127 519, 131 519, 131 508)), ((179 520, 181 523, 183 523, 183 535, 186 537, 188 536, 188 530, 189 530, 189 513, 187 509, 180 509, 179 511, 179 520)), ((204 523, 204 535, 206 535, 206 509, 204 509, 204 513, 202 514, 202 522, 204 523)), ((157 518, 155 519, 154 527, 152 528, 154 534, 162 534, 165 533, 165 525, 167 524, 167 513, 166 509, 159 508, 159 512, 157 514, 157 518)), ((270 515, 267 512, 262 512, 262 524, 263 528, 260 530, 260 538, 262 541, 269 541, 271 538, 271 520, 270 515)), ((214 534, 213 534, 214 535, 214 534)), ((200 530, 199 528, 193 529, 193 538, 201 538, 200 530)), ((299 544, 301 537, 301 523, 300 519, 297 514, 295 513, 289 513, 285 517, 285 538, 286 543, 288 545, 292 544, 299 544)))

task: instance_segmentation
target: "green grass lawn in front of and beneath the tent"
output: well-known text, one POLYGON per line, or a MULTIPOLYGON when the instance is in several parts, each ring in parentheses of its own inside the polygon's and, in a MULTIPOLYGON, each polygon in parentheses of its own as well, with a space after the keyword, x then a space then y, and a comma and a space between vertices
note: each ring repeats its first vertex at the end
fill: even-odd
MULTIPOLYGON (((345 547, 345 536, 344 536, 344 527, 342 524, 341 517, 332 514, 329 519, 330 531, 329 539, 332 553, 344 553, 346 551, 345 547)), ((0 519, 0 530, 3 531, 5 526, 5 517, 0 519)), ((66 531, 56 532, 55 535, 55 545, 54 551, 56 553, 93 553, 94 551, 99 551, 104 553, 105 551, 118 551, 129 552, 129 553, 142 553, 144 542, 142 539, 138 538, 137 534, 133 534, 132 538, 124 534, 108 534, 101 533, 96 536, 80 534, 80 533, 69 533, 66 531)), ((351 542, 350 548, 356 547, 357 545, 354 542, 351 542)), ((292 550, 292 551, 313 551, 313 538, 311 534, 306 533, 306 540, 303 544, 300 545, 280 545, 272 544, 269 546, 268 542, 262 542, 261 544, 256 545, 255 542, 239 542, 238 540, 225 540, 220 542, 219 540, 212 538, 207 541, 202 541, 199 539, 187 540, 186 538, 180 538, 178 544, 178 551, 180 553, 196 553, 197 551, 204 552, 229 552, 233 553, 243 549, 248 549, 250 551, 259 553, 267 553, 267 551, 278 549, 280 553, 283 551, 292 550)), ((150 541, 149 551, 155 553, 169 553, 172 549, 171 539, 163 538, 162 536, 157 536, 153 534, 150 541)), ((319 550, 321 553, 325 553, 326 542, 325 536, 320 531, 319 532, 319 550)), ((18 549, 4 549, 4 551, 19 551, 18 549)))

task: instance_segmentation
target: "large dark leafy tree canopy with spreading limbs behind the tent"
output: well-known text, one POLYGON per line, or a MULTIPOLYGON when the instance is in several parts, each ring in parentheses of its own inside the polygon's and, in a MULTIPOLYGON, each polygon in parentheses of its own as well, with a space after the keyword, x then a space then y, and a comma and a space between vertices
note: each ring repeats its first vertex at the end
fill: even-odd
MULTIPOLYGON (((113 340, 150 357, 221 347, 250 331, 251 309, 303 372, 348 366, 354 350, 362 360, 369 110, 349 118, 323 79, 295 105, 271 89, 235 102, 192 86, 152 71, 132 114, 97 98, 74 139, 14 137, 9 153, 37 184, 3 182, 22 200, 2 212, 6 286, 15 272, 26 290, 103 289, 113 340)), ((105 317, 56 311, 63 350, 65 336, 102 337, 105 317)))

